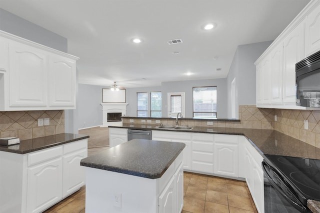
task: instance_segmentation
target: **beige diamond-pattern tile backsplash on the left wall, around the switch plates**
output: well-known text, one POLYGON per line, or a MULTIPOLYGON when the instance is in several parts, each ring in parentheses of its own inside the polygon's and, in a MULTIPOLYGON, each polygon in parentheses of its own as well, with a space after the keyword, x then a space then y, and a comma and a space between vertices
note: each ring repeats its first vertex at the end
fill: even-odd
POLYGON ((64 133, 64 110, 0 111, 0 137, 20 140, 64 133), (49 125, 38 126, 38 118, 49 118, 49 125))

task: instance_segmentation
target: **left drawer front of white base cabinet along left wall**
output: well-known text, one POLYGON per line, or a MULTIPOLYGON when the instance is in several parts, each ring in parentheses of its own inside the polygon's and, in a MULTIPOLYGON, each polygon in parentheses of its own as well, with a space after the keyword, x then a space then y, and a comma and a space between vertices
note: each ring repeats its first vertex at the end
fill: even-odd
POLYGON ((62 146, 47 148, 28 154, 28 166, 62 156, 62 146))

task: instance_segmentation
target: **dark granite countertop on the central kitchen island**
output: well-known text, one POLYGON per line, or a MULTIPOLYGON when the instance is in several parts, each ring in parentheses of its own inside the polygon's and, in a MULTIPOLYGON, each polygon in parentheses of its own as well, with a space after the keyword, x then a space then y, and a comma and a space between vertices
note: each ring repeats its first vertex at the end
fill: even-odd
POLYGON ((133 139, 83 158, 80 165, 155 179, 184 147, 180 142, 133 139))

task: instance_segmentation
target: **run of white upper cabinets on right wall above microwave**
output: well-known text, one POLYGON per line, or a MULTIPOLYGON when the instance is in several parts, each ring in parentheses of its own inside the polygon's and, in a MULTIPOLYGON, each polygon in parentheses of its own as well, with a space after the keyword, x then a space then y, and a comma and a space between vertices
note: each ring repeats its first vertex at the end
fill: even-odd
POLYGON ((256 105, 312 109, 295 105, 295 63, 320 50, 320 1, 311 0, 255 61, 256 105))

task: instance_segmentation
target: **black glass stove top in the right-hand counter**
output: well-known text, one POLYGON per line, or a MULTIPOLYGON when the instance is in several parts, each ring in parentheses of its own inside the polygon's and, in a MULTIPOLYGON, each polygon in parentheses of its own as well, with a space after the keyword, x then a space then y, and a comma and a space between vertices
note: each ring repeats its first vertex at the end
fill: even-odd
POLYGON ((270 154, 265 156, 291 183, 299 198, 304 199, 303 202, 306 199, 320 200, 320 160, 270 154))

